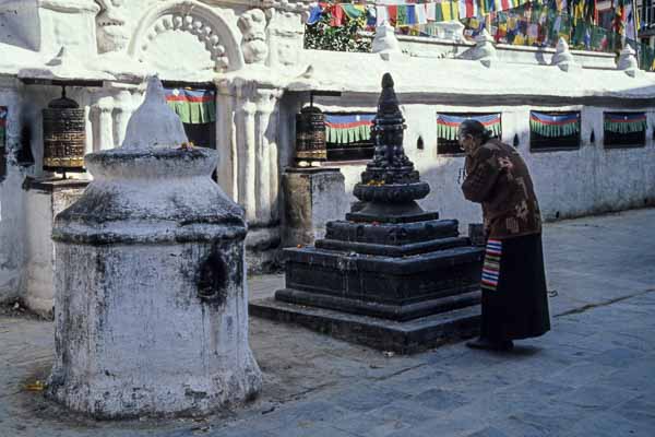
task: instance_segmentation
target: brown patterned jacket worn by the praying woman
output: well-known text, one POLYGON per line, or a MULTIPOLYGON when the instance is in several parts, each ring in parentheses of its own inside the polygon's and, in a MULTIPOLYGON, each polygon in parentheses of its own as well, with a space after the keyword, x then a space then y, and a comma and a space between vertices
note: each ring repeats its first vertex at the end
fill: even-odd
POLYGON ((489 140, 466 156, 464 197, 483 204, 488 238, 503 239, 541 232, 539 204, 527 166, 514 147, 489 140))

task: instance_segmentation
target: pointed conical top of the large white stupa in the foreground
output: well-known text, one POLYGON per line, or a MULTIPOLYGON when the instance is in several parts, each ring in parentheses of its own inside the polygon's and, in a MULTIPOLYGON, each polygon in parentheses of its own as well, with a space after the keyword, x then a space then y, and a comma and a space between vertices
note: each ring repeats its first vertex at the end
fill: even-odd
POLYGON ((184 127, 166 103, 164 85, 156 75, 147 80, 145 101, 128 122, 123 149, 179 146, 188 142, 184 127))

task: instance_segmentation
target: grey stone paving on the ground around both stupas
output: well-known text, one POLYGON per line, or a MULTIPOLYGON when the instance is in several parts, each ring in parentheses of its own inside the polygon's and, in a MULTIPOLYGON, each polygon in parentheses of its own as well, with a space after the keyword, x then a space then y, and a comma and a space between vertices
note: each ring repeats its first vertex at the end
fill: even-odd
MULTIPOLYGON (((511 353, 452 344, 388 356, 251 319, 265 386, 201 420, 95 422, 26 385, 52 324, 0 316, 0 436, 655 436, 655 210, 562 221, 544 234, 553 329, 511 353)), ((251 297, 279 275, 251 279, 251 297)))

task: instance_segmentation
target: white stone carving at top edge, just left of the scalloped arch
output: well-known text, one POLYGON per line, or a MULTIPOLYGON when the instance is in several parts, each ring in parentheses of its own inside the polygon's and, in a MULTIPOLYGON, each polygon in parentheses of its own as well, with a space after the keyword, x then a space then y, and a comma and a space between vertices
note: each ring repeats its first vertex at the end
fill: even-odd
POLYGON ((96 16, 98 52, 122 51, 129 42, 127 17, 121 9, 124 0, 96 0, 100 13, 96 16))

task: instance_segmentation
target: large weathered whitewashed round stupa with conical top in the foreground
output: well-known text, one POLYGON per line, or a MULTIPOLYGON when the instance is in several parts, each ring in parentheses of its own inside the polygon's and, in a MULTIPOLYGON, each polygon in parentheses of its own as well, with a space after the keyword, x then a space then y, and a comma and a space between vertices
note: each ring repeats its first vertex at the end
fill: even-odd
POLYGON ((99 417, 201 415, 252 399, 240 206, 211 179, 217 154, 179 146, 151 81, 122 147, 55 223, 56 361, 48 394, 99 417))

